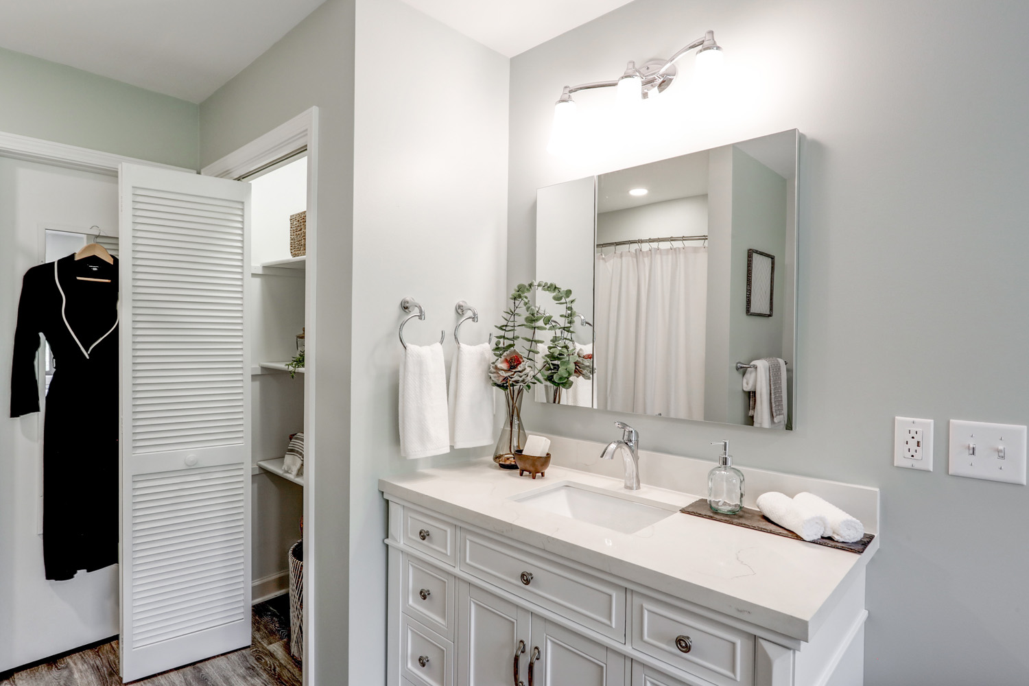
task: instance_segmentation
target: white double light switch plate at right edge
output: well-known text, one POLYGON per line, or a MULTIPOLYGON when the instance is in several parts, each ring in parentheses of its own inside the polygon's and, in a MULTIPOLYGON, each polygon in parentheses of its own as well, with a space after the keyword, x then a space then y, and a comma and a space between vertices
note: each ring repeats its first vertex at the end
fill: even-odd
POLYGON ((1026 428, 1022 425, 951 420, 949 452, 954 476, 1026 484, 1026 428))

